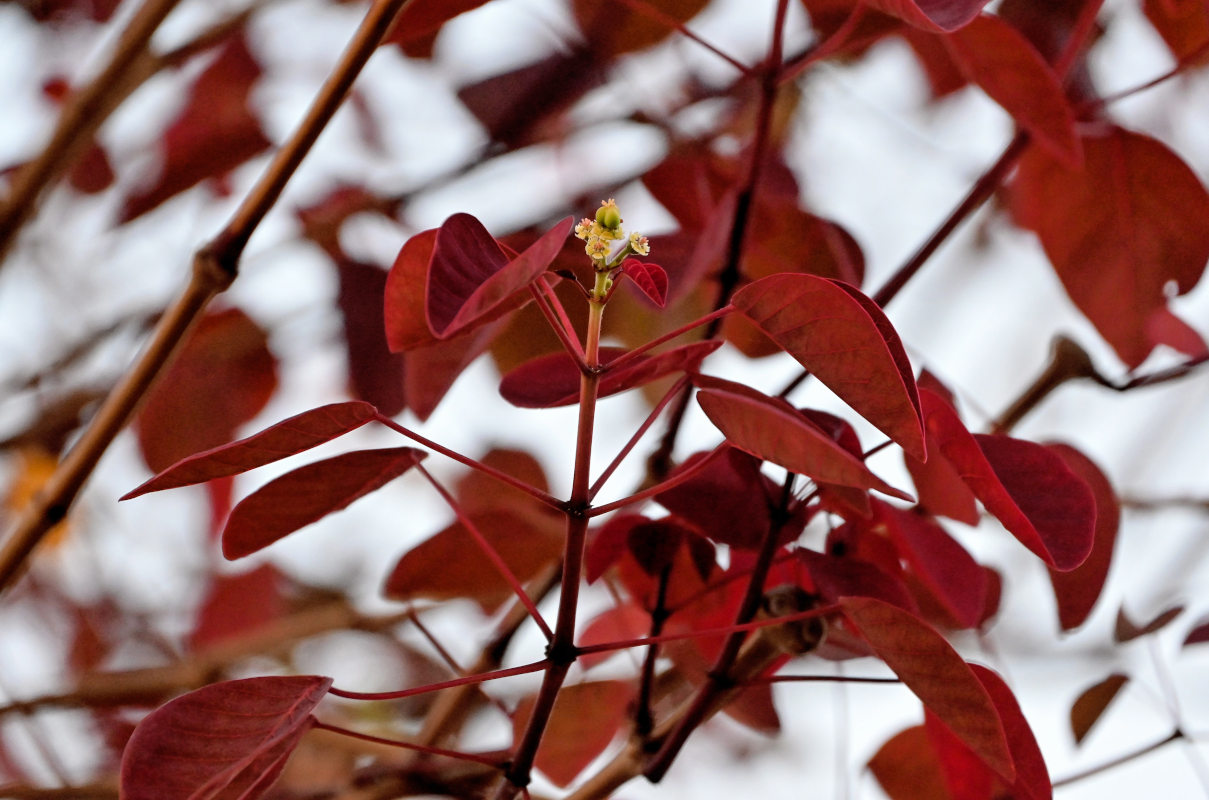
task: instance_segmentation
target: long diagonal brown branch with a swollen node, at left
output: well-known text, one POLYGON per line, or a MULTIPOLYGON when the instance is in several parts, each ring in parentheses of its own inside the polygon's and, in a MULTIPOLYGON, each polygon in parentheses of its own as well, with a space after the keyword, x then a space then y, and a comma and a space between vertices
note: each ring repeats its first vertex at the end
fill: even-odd
MULTIPOLYGON (((163 0, 161 0, 163 1, 163 0)), ((287 181, 326 127, 357 75, 377 48, 398 11, 410 0, 375 0, 319 88, 306 117, 273 156, 231 221, 193 257, 192 279, 156 326, 151 343, 110 392, 88 429, 71 448, 42 493, 25 509, 16 529, 0 546, 0 591, 17 576, 25 560, 56 522, 66 516, 85 481, 117 433, 126 427, 151 384, 163 372, 193 323, 215 295, 238 273, 248 238, 273 207, 287 181)))

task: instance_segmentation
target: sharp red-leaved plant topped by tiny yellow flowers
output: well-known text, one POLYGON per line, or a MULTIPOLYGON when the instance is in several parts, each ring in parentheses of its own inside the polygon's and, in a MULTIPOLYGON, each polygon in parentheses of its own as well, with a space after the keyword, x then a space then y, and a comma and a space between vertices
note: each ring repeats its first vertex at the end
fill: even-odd
POLYGON ((1097 498, 1083 477, 1093 468, 1070 448, 970 433, 944 388, 913 376, 878 305, 843 280, 773 274, 649 342, 603 347, 608 306, 624 284, 665 303, 664 269, 637 257, 649 250, 646 237, 626 232, 612 199, 595 218, 561 220, 520 251, 456 214, 407 240, 387 279, 386 331, 395 350, 461 343, 476 353, 521 307, 538 308, 561 352, 516 367, 499 392, 521 407, 578 406, 566 497, 515 464, 455 452, 363 401, 313 408, 190 456, 127 495, 229 477, 365 424, 386 425, 410 444, 347 452, 270 481, 231 511, 222 552, 256 552, 416 470, 458 522, 403 553, 387 596, 461 595, 490 607, 510 593, 523 611, 514 625, 534 626, 545 647, 517 666, 387 692, 337 688, 322 676, 212 684, 140 723, 122 764, 126 796, 256 796, 302 735, 322 729, 410 752, 395 769, 415 781, 473 785, 496 798, 526 793, 533 770, 571 784, 607 750, 611 759, 574 793, 603 798, 631 778, 659 781, 687 737, 719 711, 754 725, 775 714, 769 686, 792 680, 788 667, 862 656, 883 661, 920 698, 939 752, 968 755, 967 777, 1014 798, 1048 795, 1046 765, 1007 684, 966 662, 937 630, 977 628, 996 607, 988 569, 937 515, 976 518, 978 500, 1049 568, 1075 570, 1094 543, 1097 498), (584 283, 559 266, 572 227, 584 243, 584 283), (586 306, 583 337, 554 291, 559 282, 577 286, 574 302, 586 306), (746 320, 886 440, 870 446, 848 419, 715 375, 708 356, 721 342, 681 340, 725 317, 746 320), (656 383, 663 399, 653 418, 692 390, 721 440, 670 475, 619 492, 609 479, 638 457, 650 421, 626 431, 629 441, 606 463, 594 452, 597 405, 656 383), (913 491, 866 464, 887 445, 902 450, 913 491), (430 453, 475 475, 451 491, 426 470, 430 453), (806 532, 825 520, 826 543, 809 546, 806 532), (469 558, 449 557, 455 537, 481 552, 473 580, 457 575, 470 569, 469 558), (580 590, 595 582, 607 584, 617 604, 583 619, 580 590), (551 591, 557 610, 546 619, 539 604, 551 591), (642 654, 631 676, 592 677, 597 663, 626 649, 642 654), (325 696, 384 701, 439 691, 453 697, 444 707, 452 720, 481 703, 468 686, 531 672, 542 673, 540 686, 504 708, 515 732, 504 750, 462 749, 456 724, 387 741, 324 721, 325 696))

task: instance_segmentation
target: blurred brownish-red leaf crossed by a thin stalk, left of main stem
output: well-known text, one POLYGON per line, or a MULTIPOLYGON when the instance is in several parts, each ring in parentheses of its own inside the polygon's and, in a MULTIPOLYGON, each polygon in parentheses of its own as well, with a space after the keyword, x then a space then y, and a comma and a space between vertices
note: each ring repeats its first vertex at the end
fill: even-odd
MULTIPOLYGON (((485 510, 472 518, 522 582, 562 555, 562 535, 556 527, 533 524, 511 510, 485 510)), ((461 523, 409 550, 387 578, 384 592, 399 601, 468 598, 486 610, 513 596, 508 581, 461 523)))

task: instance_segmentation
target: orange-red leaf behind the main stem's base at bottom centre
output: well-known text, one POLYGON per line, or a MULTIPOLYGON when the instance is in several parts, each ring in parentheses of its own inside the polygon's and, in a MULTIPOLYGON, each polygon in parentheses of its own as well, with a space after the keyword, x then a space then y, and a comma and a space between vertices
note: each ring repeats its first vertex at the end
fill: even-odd
MULTIPOLYGON (((533 765, 565 787, 600 755, 629 715, 632 686, 624 680, 598 680, 563 686, 533 765)), ((513 738, 520 741, 533 714, 534 696, 520 702, 513 717, 513 738)))

